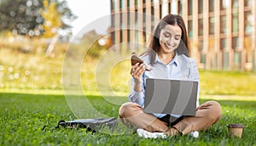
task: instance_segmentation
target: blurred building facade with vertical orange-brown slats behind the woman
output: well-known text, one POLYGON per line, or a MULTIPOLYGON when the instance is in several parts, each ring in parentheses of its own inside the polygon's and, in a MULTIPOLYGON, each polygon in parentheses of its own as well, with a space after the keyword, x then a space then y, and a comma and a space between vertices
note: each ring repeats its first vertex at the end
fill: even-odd
POLYGON ((161 18, 166 14, 180 14, 188 29, 192 58, 200 68, 256 70, 255 0, 110 2, 113 45, 145 44, 161 18))

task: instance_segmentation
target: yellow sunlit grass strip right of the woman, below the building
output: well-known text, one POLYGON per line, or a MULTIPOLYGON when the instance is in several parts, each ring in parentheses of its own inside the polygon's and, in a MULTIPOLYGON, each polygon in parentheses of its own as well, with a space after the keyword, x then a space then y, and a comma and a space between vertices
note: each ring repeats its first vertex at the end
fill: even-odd
POLYGON ((238 71, 200 71, 201 94, 256 97, 256 74, 238 71))

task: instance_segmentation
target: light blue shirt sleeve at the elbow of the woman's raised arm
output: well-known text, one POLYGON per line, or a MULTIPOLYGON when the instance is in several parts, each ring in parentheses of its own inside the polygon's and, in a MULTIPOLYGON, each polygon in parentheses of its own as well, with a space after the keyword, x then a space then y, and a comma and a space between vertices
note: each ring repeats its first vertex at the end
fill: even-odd
POLYGON ((137 103, 141 106, 144 105, 144 97, 145 97, 145 87, 144 82, 142 83, 142 92, 138 93, 134 91, 134 80, 131 78, 131 92, 129 94, 129 100, 133 103, 137 103))

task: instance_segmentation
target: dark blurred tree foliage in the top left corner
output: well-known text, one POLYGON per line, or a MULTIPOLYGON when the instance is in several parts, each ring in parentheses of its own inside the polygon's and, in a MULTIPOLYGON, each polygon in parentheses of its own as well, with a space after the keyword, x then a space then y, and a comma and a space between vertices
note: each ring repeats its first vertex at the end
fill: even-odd
POLYGON ((14 0, 3 1, 0 5, 0 31, 9 30, 26 35, 44 22, 37 12, 42 7, 41 1, 14 0))

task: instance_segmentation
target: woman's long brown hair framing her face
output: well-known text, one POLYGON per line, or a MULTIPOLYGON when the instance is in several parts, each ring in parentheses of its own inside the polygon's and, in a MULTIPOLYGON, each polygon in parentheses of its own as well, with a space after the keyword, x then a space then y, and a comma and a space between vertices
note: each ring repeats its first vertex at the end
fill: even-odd
POLYGON ((150 64, 153 64, 155 60, 155 53, 160 50, 160 31, 165 28, 166 25, 178 25, 182 30, 181 41, 176 48, 176 53, 178 55, 184 54, 190 57, 190 47, 187 35, 187 30, 183 18, 177 14, 167 14, 156 26, 154 30, 154 35, 150 37, 148 42, 148 50, 143 54, 150 55, 150 64))

